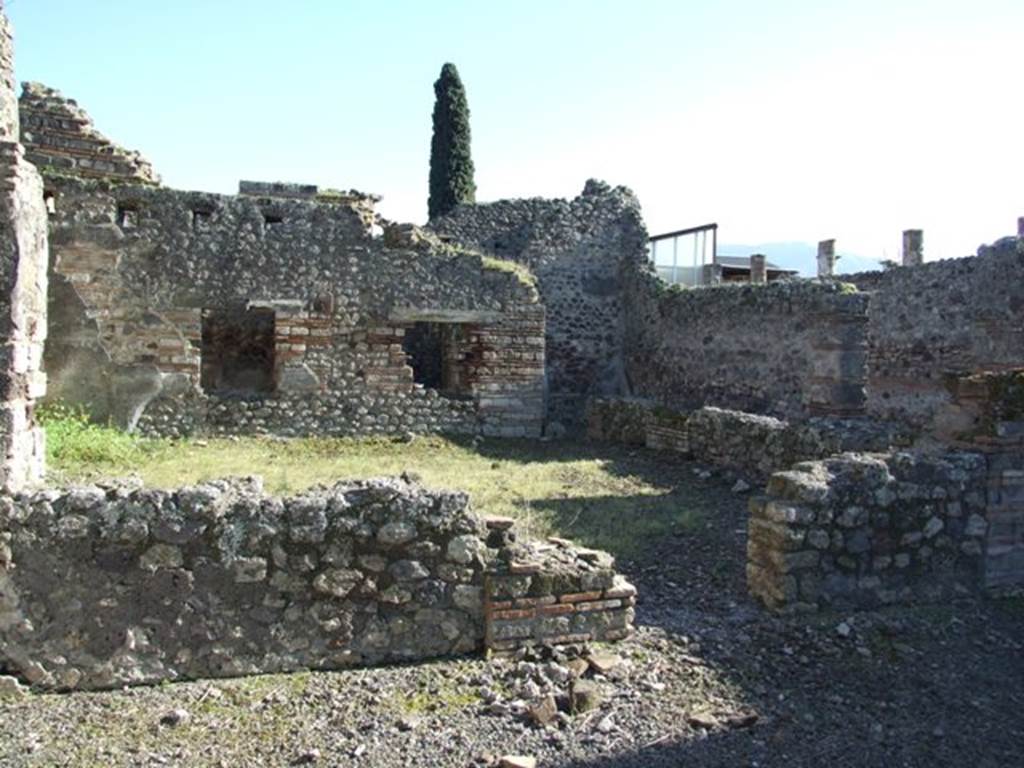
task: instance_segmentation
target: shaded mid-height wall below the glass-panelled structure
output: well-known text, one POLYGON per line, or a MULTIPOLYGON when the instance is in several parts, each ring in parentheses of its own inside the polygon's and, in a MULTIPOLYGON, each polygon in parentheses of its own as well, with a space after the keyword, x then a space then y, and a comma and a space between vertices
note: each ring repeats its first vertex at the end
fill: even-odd
POLYGON ((783 418, 863 409, 867 296, 831 284, 670 288, 628 282, 631 393, 783 418))

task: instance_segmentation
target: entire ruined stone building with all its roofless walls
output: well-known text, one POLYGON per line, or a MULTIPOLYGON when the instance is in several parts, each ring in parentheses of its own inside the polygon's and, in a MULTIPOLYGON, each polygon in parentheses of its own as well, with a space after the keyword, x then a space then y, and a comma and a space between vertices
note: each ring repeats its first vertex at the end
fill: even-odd
MULTIPOLYGON (((41 474, 47 381, 157 435, 586 423, 761 482, 748 584, 773 609, 1024 584, 1024 237, 845 282, 682 290, 649 262, 636 198, 599 181, 425 228, 356 191, 169 189, 57 91, 16 101, 3 25, 5 489, 41 474)), ((634 591, 603 553, 517 547, 509 524, 404 481, 10 496, 0 667, 102 687, 629 633, 634 591), (176 634, 193 623, 202 638, 176 634)))

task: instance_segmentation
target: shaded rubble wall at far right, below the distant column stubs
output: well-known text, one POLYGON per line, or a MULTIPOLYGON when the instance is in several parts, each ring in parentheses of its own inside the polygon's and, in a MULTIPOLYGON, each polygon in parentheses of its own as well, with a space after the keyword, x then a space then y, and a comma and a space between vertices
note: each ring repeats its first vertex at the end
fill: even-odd
POLYGON ((843 275, 871 292, 867 412, 928 430, 950 374, 1024 361, 1024 240, 977 256, 843 275))

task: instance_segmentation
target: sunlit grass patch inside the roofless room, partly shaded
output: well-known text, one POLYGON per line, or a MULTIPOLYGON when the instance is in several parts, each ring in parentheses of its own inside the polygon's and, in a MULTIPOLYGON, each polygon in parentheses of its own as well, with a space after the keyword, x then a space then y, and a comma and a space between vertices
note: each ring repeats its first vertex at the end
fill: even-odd
POLYGON ((694 529, 720 499, 687 484, 678 460, 642 449, 571 441, 261 437, 142 440, 79 416, 47 419, 50 471, 63 481, 125 474, 171 488, 261 474, 267 492, 295 494, 342 479, 416 474, 469 493, 482 514, 519 521, 525 536, 562 536, 634 556, 694 529))

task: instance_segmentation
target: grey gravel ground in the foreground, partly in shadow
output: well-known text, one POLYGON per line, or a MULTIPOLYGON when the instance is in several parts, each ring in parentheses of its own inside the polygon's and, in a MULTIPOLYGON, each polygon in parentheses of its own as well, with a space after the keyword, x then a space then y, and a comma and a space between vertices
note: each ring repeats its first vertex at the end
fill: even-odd
POLYGON ((768 615, 743 589, 733 479, 681 478, 717 514, 620 562, 629 641, 0 700, 0 765, 1022 764, 1024 600, 768 615))

